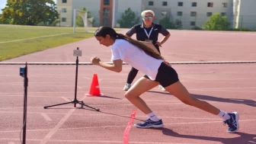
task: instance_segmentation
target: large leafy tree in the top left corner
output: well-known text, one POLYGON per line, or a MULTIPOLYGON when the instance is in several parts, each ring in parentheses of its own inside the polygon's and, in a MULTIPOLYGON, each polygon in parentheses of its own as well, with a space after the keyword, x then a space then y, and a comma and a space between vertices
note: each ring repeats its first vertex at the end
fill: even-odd
POLYGON ((7 0, 1 15, 2 22, 21 25, 52 24, 58 18, 53 0, 7 0))

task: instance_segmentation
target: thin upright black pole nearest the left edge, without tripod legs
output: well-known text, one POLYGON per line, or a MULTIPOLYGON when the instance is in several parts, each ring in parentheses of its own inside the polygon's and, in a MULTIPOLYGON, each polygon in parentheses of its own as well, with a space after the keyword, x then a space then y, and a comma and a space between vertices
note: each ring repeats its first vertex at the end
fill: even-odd
POLYGON ((22 144, 26 144, 26 130, 27 130, 27 62, 24 69, 24 112, 23 112, 23 139, 22 144))

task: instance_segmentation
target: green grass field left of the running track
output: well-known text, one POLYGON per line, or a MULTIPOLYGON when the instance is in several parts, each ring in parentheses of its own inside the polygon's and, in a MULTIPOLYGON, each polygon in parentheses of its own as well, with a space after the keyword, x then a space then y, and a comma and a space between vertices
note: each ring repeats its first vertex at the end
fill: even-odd
MULTIPOLYGON (((97 28, 92 28, 90 31, 94 31, 96 29, 97 28)), ((79 27, 77 31, 82 32, 85 30, 79 27)), ((74 34, 72 27, 0 25, 0 61, 50 49, 56 46, 62 46, 67 43, 73 43, 93 36, 94 34, 89 33, 74 34), (59 35, 53 37, 44 37, 56 34, 59 35), (22 40, 34 37, 42 38, 22 40), (8 42, 11 40, 18 41, 8 42)))

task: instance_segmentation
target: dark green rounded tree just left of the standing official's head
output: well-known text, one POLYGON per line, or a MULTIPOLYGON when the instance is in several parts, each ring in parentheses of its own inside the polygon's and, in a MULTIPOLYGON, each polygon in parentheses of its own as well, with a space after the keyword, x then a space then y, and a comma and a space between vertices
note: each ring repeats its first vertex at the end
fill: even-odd
POLYGON ((126 9, 122 14, 120 20, 117 21, 122 28, 130 28, 135 24, 139 24, 139 17, 136 17, 135 12, 133 12, 130 8, 126 9))

